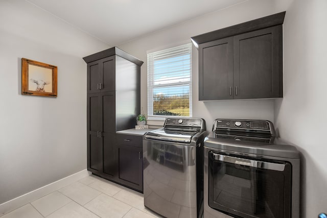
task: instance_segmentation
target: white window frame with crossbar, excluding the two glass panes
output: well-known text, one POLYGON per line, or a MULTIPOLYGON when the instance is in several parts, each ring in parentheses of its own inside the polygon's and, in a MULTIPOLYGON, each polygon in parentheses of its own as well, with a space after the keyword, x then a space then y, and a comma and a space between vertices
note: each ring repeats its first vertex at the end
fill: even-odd
POLYGON ((193 111, 192 111, 192 72, 193 72, 193 66, 192 66, 192 42, 184 42, 179 45, 166 47, 165 49, 160 49, 156 51, 147 52, 147 103, 148 103, 148 120, 165 120, 166 117, 192 117, 193 111), (174 49, 175 47, 188 47, 190 53, 190 80, 189 81, 183 81, 183 82, 173 82, 173 83, 165 83, 165 84, 157 84, 154 85, 154 64, 153 64, 153 55, 157 52, 164 52, 165 50, 170 51, 174 49), (151 63, 149 63, 149 55, 152 55, 151 57, 151 63), (166 87, 166 86, 178 86, 178 85, 188 85, 189 86, 189 116, 173 116, 173 115, 153 115, 153 89, 156 87, 166 87))

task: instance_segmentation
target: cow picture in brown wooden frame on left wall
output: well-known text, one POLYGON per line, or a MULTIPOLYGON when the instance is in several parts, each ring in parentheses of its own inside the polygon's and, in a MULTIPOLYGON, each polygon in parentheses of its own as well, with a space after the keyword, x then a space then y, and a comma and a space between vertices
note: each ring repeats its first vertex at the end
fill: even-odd
POLYGON ((57 97, 57 67, 22 58, 21 94, 57 97))

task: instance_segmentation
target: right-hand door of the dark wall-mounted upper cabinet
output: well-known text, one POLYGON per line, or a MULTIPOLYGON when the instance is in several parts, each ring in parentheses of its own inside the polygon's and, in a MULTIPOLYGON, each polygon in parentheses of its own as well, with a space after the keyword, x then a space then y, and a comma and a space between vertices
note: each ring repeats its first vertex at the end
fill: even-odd
POLYGON ((283 97, 281 28, 234 36, 235 99, 283 97))

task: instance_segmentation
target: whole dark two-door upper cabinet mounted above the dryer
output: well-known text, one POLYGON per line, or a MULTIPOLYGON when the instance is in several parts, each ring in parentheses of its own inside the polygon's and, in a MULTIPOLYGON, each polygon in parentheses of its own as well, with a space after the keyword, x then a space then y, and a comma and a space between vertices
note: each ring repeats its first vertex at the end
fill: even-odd
POLYGON ((284 17, 192 37, 199 49, 199 100, 282 98, 284 17))

